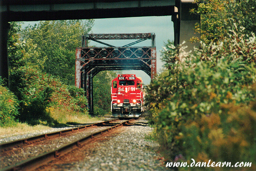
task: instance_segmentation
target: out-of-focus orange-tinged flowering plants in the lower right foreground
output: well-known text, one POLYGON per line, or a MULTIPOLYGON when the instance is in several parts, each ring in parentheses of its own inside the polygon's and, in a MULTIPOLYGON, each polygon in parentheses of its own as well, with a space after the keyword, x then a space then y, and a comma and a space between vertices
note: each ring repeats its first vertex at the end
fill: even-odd
MULTIPOLYGON (((253 85, 255 89, 255 84, 253 85)), ((183 142, 187 158, 197 162, 252 162, 248 170, 255 170, 256 163, 256 108, 255 102, 222 104, 223 113, 203 115, 189 120, 177 136, 183 142)), ((218 169, 218 168, 216 168, 218 169)), ((243 168, 246 170, 246 168, 243 168)))

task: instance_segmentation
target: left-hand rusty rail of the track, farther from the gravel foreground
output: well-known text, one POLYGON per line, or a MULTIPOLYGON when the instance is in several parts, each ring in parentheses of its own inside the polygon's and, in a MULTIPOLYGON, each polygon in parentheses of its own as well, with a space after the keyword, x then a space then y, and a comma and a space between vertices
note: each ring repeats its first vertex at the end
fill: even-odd
POLYGON ((29 137, 29 138, 25 138, 25 139, 18 139, 18 140, 14 140, 12 142, 2 143, 2 144, 0 144, 0 151, 4 151, 4 150, 7 150, 8 148, 13 148, 13 147, 17 147, 17 146, 21 146, 21 145, 25 145, 25 144, 30 144, 31 142, 40 141, 42 139, 47 139, 47 138, 54 137, 54 136, 61 136, 64 133, 79 131, 81 129, 86 129, 91 126, 100 126, 101 124, 109 123, 109 122, 112 122, 115 120, 118 120, 118 119, 112 119, 112 120, 108 120, 108 121, 104 121, 104 122, 100 122, 100 123, 93 123, 90 125, 74 127, 74 128, 65 129, 62 131, 56 131, 56 132, 41 134, 39 136, 29 137))

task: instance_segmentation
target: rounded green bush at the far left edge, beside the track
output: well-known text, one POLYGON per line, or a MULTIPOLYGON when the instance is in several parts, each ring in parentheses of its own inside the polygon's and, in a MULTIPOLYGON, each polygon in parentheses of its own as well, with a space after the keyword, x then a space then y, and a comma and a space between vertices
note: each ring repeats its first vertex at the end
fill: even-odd
MULTIPOLYGON (((2 84, 1 78, 0 84, 2 84)), ((0 85, 0 126, 11 126, 15 124, 15 117, 18 115, 17 98, 10 90, 0 85)))

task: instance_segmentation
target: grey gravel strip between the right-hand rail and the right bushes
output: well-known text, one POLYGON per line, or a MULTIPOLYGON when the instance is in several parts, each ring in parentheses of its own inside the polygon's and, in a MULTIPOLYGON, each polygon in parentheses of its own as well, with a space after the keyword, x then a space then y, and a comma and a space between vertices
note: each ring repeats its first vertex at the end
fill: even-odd
MULTIPOLYGON (((145 139, 152 132, 147 120, 138 119, 120 133, 97 142, 80 161, 55 164, 52 171, 170 171, 158 160, 158 143, 145 139)), ((86 153, 86 152, 84 152, 86 153)))

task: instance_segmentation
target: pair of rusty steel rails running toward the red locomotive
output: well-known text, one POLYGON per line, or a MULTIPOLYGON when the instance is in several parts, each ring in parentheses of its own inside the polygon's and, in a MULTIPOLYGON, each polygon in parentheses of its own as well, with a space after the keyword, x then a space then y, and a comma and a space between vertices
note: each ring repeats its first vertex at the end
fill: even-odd
POLYGON ((101 136, 103 134, 105 135, 105 133, 110 132, 112 129, 117 128, 118 126, 129 124, 128 122, 131 120, 132 119, 119 123, 120 120, 113 119, 113 120, 108 120, 108 121, 104 121, 101 123, 94 123, 91 125, 80 126, 80 127, 67 129, 67 130, 63 130, 63 131, 59 131, 59 132, 52 132, 52 133, 47 133, 47 134, 43 134, 40 136, 30 137, 28 139, 21 139, 21 140, 9 142, 9 143, 0 144, 1 152, 6 154, 9 151, 13 152, 13 149, 23 147, 24 145, 25 146, 33 145, 33 144, 37 144, 38 142, 45 143, 49 139, 54 139, 56 137, 59 138, 59 137, 65 136, 67 134, 81 131, 83 129, 85 130, 88 128, 94 128, 95 126, 101 126, 101 127, 106 126, 107 127, 106 129, 101 129, 100 131, 90 133, 87 136, 83 136, 80 139, 74 140, 73 142, 66 143, 65 145, 62 145, 61 147, 54 148, 54 149, 50 150, 49 152, 43 152, 37 156, 34 156, 31 158, 25 159, 21 162, 12 164, 6 168, 1 169, 0 171, 34 170, 34 168, 38 168, 39 165, 47 163, 48 161, 51 161, 54 158, 58 158, 62 154, 66 154, 67 152, 70 152, 71 150, 74 150, 75 148, 80 148, 81 146, 83 146, 84 144, 89 142, 91 139, 94 139, 94 137, 101 136))

